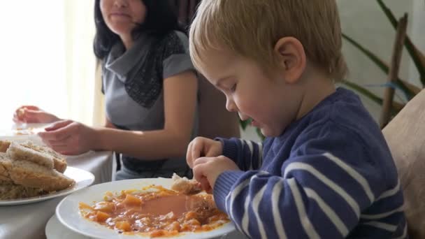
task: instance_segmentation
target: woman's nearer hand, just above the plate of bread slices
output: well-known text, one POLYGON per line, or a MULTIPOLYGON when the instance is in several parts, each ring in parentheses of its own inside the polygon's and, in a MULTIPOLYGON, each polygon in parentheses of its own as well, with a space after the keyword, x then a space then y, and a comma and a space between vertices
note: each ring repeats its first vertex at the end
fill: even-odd
POLYGON ((72 120, 62 120, 38 133, 43 142, 53 150, 68 155, 94 150, 96 130, 72 120))

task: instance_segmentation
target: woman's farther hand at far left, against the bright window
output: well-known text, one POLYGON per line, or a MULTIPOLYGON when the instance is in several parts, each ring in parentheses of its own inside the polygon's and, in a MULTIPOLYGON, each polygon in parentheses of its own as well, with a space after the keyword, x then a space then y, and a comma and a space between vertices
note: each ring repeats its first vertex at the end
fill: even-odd
POLYGON ((60 120, 55 115, 45 112, 37 106, 21 106, 13 114, 13 122, 52 123, 60 120))

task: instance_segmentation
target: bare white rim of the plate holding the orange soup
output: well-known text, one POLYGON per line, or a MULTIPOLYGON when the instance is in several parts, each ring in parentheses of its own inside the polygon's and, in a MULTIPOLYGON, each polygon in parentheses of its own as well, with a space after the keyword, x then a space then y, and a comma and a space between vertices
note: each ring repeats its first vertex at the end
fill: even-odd
MULTIPOLYGON (((171 187, 171 179, 169 178, 143 178, 136 180, 122 180, 114 182, 106 182, 88 187, 85 190, 78 191, 75 194, 66 196, 56 208, 56 216, 62 224, 69 229, 92 238, 108 238, 108 239, 134 239, 134 238, 150 238, 140 235, 122 235, 106 226, 101 226, 96 222, 89 221, 82 217, 79 213, 78 203, 83 202, 92 204, 94 201, 103 201, 103 195, 106 191, 119 192, 124 189, 141 189, 149 185, 161 185, 165 188, 171 187)), ((184 238, 214 238, 225 235, 234 231, 235 227, 232 222, 220 226, 218 229, 200 233, 182 233, 184 238)), ((180 237, 177 237, 180 238, 180 237)), ((169 238, 168 238, 169 239, 169 238)))

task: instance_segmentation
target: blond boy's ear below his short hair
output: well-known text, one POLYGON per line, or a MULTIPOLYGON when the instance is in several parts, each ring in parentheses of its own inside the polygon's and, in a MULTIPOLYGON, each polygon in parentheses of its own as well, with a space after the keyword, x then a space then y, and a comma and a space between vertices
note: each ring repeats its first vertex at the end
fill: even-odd
POLYGON ((284 37, 279 39, 274 50, 278 55, 284 80, 290 84, 298 82, 307 62, 303 44, 294 37, 284 37))

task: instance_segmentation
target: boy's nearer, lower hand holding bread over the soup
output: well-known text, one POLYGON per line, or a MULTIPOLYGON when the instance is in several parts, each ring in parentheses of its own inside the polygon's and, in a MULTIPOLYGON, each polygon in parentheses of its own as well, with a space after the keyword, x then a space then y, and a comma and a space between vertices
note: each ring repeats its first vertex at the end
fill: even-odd
POLYGON ((228 157, 202 157, 194 161, 192 167, 194 178, 201 182, 202 189, 210 193, 215 186, 215 180, 224 171, 240 170, 228 157))

